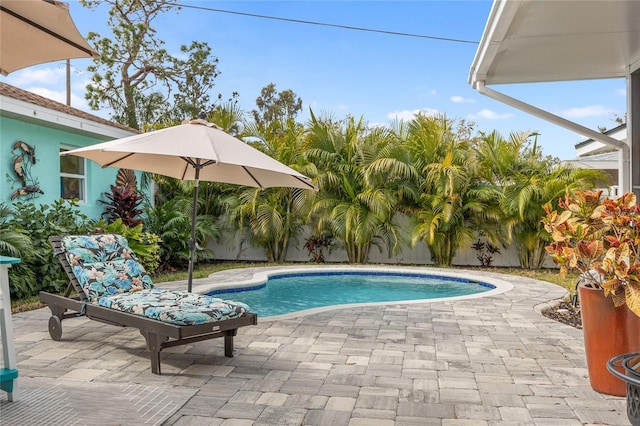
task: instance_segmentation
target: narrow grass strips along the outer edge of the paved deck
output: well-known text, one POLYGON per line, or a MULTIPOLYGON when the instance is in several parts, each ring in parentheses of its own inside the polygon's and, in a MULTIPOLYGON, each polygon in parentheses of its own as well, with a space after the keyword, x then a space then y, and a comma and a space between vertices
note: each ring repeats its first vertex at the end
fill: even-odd
MULTIPOLYGON (((247 262, 224 262, 224 263, 215 263, 215 264, 204 264, 197 265, 196 269, 193 271, 193 278, 205 278, 210 274, 218 271, 223 271, 226 269, 236 269, 236 268, 255 268, 260 266, 283 266, 283 265, 299 265, 296 263, 286 263, 286 264, 276 264, 276 263, 264 263, 264 262, 256 262, 256 263, 247 263, 247 262)), ((311 264, 315 265, 315 264, 311 264)), ((528 270, 528 269, 520 269, 520 268, 499 268, 499 267, 488 267, 482 268, 477 266, 467 266, 460 267, 458 269, 470 269, 474 271, 487 271, 487 272, 497 272, 500 274, 509 274, 509 275, 519 275, 523 277, 533 278, 541 281, 548 281, 553 284, 557 284, 567 289, 570 293, 575 291, 576 282, 578 280, 578 276, 567 275, 566 277, 562 277, 560 272, 557 269, 540 269, 540 270, 528 270)), ((188 277, 187 271, 175 271, 171 273, 164 273, 153 277, 153 281, 155 283, 167 282, 167 281, 177 281, 177 280, 185 280, 188 277)), ((25 312, 33 309, 38 309, 43 307, 37 296, 23 299, 23 300, 12 300, 11 301, 11 312, 25 312)))

